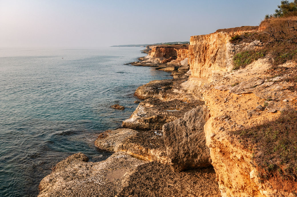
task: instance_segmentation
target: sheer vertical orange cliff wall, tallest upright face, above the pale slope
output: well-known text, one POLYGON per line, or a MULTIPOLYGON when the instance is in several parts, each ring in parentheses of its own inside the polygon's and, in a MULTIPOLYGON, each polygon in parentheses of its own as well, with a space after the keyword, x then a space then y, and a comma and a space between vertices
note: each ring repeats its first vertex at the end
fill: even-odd
POLYGON ((206 78, 208 82, 212 82, 230 70, 234 54, 229 43, 230 38, 225 32, 191 36, 189 45, 191 76, 206 78))

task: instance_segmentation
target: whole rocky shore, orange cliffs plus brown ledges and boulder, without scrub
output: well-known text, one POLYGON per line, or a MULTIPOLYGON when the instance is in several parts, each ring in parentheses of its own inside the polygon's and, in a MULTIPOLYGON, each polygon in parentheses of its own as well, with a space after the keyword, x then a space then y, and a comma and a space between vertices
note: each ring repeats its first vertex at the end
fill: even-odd
MULTIPOLYGON (((257 31, 255 29, 251 31, 257 31)), ((296 109, 290 76, 296 62, 278 67, 269 57, 233 69, 233 56, 258 44, 230 43, 250 31, 191 36, 190 45, 148 46, 147 56, 130 63, 171 72, 171 80, 140 86, 141 101, 122 128, 103 132, 99 149, 107 160, 69 156, 40 182, 39 196, 292 196, 293 179, 260 180, 235 131, 274 120, 296 109), (273 77, 271 77, 273 75, 273 77)))

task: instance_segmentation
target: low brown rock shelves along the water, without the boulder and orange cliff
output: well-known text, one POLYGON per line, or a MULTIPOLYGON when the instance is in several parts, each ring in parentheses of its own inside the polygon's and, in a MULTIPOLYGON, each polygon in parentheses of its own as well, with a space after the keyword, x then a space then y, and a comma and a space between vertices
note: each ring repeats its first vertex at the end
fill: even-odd
MULTIPOLYGON (((141 63, 147 58, 142 57, 138 60, 141 63)), ((203 169, 181 171, 186 168, 181 167, 175 170, 173 166, 176 165, 167 156, 162 126, 183 118, 186 112, 203 105, 202 101, 198 101, 190 94, 186 93, 185 96, 185 92, 174 91, 180 89, 188 77, 186 74, 189 67, 178 63, 142 64, 141 66, 155 66, 162 71, 169 67, 171 71, 167 69, 167 72, 171 72, 173 79, 153 80, 137 88, 135 96, 143 101, 131 117, 122 123, 122 128, 108 130, 98 136, 95 146, 101 150, 114 152, 112 156, 105 161, 94 163, 87 162, 88 158, 82 153, 67 157, 53 168, 51 174, 42 179, 39 196, 129 196, 135 192, 141 196, 173 196, 173 194, 182 196, 185 191, 177 188, 185 188, 192 195, 200 193, 220 196, 214 169, 207 167, 209 164, 198 164, 207 167, 203 169), (64 177, 60 182, 58 179, 61 174, 68 174, 67 177, 70 178, 64 177), (92 177, 91 180, 87 174, 92 177), (151 185, 149 189, 145 186, 146 179, 152 174, 155 180, 152 183, 157 184, 151 185), (88 183, 81 185, 80 179, 88 183), (171 184, 168 179, 171 179, 171 184), (94 180, 100 187, 94 185, 94 180), (188 182, 189 180, 192 181, 188 182), (172 186, 168 187, 168 184, 172 186), (196 186, 192 187, 192 184, 196 186), (61 185, 72 189, 62 189, 61 185), (155 190, 152 189, 154 187, 155 190)), ((209 163, 208 157, 206 163, 209 163)))

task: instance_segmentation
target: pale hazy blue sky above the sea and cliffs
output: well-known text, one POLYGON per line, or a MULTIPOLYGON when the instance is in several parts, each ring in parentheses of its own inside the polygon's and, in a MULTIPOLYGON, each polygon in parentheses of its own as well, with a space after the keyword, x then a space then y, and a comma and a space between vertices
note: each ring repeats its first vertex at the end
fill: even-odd
POLYGON ((280 0, 0 0, 0 47, 96 48, 189 41, 256 26, 280 0))

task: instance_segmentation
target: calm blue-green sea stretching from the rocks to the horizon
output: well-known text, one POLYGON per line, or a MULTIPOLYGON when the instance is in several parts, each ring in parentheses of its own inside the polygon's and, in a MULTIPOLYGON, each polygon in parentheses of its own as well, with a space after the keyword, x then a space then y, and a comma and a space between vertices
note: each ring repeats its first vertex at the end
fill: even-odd
POLYGON ((50 168, 73 153, 110 155, 94 147, 97 134, 132 114, 138 86, 171 78, 123 65, 144 56, 140 50, 0 49, 0 196, 37 196, 50 168))

